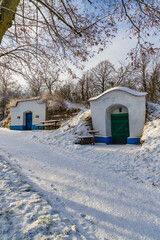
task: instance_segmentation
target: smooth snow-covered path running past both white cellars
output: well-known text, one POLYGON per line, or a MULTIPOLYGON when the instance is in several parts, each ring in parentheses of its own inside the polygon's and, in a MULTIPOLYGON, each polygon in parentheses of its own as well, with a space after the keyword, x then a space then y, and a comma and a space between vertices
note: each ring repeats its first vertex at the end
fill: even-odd
POLYGON ((92 145, 49 146, 34 142, 36 134, 0 130, 0 155, 77 225, 86 240, 160 239, 159 188, 110 169, 109 162, 117 157, 135 157, 135 147, 97 145, 92 151, 92 145))

